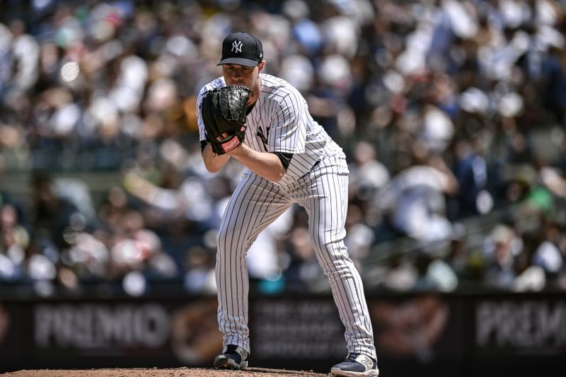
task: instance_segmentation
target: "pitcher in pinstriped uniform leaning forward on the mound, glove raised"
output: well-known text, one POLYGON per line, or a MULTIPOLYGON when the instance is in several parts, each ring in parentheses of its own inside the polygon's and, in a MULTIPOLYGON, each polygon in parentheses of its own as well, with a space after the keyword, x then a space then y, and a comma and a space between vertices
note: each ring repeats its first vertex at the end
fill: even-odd
POLYGON ((344 245, 348 170, 345 154, 316 123, 287 81, 262 73, 262 43, 245 32, 224 38, 222 76, 199 93, 202 158, 214 173, 230 158, 246 166, 218 234, 216 284, 224 349, 221 369, 248 365, 246 253, 258 234, 291 205, 306 209, 316 257, 345 326, 345 361, 334 376, 378 376, 364 289, 344 245))

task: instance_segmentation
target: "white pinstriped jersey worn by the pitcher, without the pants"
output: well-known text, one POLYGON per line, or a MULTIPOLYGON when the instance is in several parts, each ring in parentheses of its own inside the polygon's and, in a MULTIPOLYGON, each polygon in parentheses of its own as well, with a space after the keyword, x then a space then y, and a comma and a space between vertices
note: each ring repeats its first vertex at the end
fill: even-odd
MULTIPOLYGON (((306 100, 283 79, 261 74, 260 98, 248 114, 246 144, 255 151, 293 153, 293 158, 278 185, 289 185, 304 176, 316 161, 343 153, 325 129, 308 112, 306 100)), ((225 86, 224 77, 205 85, 197 106, 207 91, 225 86)), ((204 124, 197 112, 200 140, 204 140, 204 124)))

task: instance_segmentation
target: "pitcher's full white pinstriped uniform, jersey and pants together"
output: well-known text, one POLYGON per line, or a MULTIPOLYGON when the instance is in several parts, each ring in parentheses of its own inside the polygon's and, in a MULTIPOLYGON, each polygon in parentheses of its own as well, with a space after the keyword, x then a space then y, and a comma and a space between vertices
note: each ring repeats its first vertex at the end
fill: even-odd
MULTIPOLYGON (((246 170, 226 207, 216 255, 224 346, 236 344, 250 352, 246 254, 258 234, 297 203, 308 213, 308 233, 345 325, 348 352, 376 359, 362 279, 344 244, 348 187, 344 153, 313 120, 299 91, 267 74, 261 75, 261 83, 258 101, 247 117, 246 144, 256 151, 293 153, 293 158, 276 183, 246 170)), ((224 85, 222 77, 207 84, 197 103, 203 93, 224 85)), ((200 112, 197 120, 203 140, 200 112)))

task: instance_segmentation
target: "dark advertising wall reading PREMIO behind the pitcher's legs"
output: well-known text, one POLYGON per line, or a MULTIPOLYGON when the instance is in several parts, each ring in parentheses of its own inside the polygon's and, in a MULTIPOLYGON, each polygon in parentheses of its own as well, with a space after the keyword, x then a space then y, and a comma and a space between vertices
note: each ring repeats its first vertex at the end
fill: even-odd
MULTIPOLYGON (((387 294, 368 306, 388 376, 566 366, 560 294, 387 294)), ((347 352, 329 296, 251 297, 250 339, 254 366, 326 372, 347 352)), ((0 301, 0 372, 209 366, 221 346, 215 297, 0 301)))

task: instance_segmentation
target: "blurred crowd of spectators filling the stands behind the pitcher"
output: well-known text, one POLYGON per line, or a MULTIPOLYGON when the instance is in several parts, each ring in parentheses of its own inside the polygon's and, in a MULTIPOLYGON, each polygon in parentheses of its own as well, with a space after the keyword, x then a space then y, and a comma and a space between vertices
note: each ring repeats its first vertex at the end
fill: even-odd
MULTIPOLYGON (((246 30, 347 153, 367 286, 566 289, 565 3, 1 1, 0 182, 28 172, 29 195, 0 192, 0 285, 215 291, 243 168, 204 168, 195 103, 246 30), (96 199, 78 172, 120 180, 96 199)), ((328 289, 307 228, 293 207, 258 237, 255 289, 328 289)))

